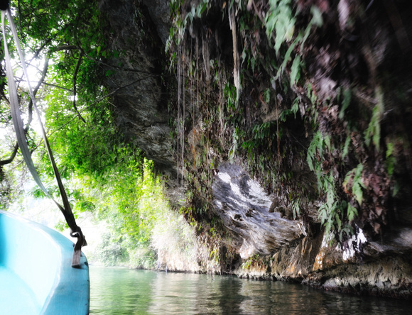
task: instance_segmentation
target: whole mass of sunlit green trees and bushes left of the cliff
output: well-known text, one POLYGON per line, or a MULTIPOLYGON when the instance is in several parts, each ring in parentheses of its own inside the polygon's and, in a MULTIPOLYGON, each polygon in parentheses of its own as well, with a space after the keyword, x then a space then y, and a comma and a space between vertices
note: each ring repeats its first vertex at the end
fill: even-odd
MULTIPOLYGON (((158 255, 194 260, 198 251, 195 227, 170 208, 164 183, 153 172, 153 162, 146 160, 116 126, 114 104, 102 85, 110 72, 102 65, 119 52, 106 48, 107 21, 97 3, 11 1, 11 8, 73 212, 79 220, 91 214, 93 223, 105 230, 90 260, 148 268, 156 266, 158 255)), ((11 38, 8 40, 13 45, 11 38)), ((33 159, 50 193, 60 199, 36 133, 38 122, 32 120, 28 87, 16 66, 33 159)), ((4 71, 2 67, 2 77, 4 71)), ((2 82, 1 209, 7 209, 13 201, 23 201, 24 194, 45 196, 40 189, 27 190, 30 179, 15 144, 7 86, 2 82)), ((15 205, 23 211, 24 207, 15 205)), ((55 227, 61 231, 67 228, 63 220, 55 227)))

